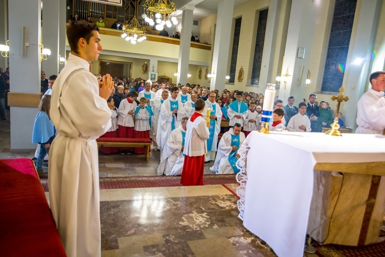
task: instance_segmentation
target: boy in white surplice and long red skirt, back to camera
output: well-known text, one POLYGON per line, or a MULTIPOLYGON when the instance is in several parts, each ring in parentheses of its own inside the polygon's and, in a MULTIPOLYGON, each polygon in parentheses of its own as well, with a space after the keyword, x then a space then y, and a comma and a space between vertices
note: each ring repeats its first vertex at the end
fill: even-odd
POLYGON ((181 184, 184 186, 203 185, 204 155, 207 153, 207 138, 210 135, 207 123, 203 118, 205 102, 195 102, 195 113, 188 119, 184 142, 184 163, 181 184))

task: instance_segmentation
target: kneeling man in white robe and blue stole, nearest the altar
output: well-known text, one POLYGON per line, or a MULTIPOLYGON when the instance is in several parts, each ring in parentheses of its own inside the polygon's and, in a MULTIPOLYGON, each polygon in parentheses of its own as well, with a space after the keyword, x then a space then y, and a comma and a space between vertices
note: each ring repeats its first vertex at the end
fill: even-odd
POLYGON ((241 124, 235 123, 234 127, 223 134, 219 141, 217 157, 210 171, 216 174, 237 174, 239 172, 235 163, 240 157, 238 149, 245 140, 241 129, 241 124))

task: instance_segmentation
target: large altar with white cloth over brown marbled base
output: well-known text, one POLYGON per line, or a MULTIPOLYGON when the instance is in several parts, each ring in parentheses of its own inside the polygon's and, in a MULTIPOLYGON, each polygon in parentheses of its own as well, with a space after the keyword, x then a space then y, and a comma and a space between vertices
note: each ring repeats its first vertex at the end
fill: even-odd
POLYGON ((385 201, 385 137, 252 132, 239 149, 243 225, 278 256, 324 244, 375 243, 385 201))

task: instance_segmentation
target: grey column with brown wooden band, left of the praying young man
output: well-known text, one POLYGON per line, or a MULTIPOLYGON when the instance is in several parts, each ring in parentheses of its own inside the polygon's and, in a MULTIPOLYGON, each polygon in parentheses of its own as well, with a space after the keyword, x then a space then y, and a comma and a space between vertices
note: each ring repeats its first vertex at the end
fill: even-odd
POLYGON ((41 11, 41 0, 8 1, 11 150, 36 148, 31 143, 31 138, 41 91, 41 11), (26 28, 26 47, 22 44, 23 27, 26 28), (25 49, 25 54, 22 48, 25 49))

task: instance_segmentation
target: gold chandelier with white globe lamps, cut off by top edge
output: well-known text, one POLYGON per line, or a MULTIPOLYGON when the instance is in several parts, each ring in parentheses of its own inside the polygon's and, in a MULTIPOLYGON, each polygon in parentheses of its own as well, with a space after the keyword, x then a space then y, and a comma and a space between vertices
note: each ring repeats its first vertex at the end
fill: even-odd
POLYGON ((157 30, 162 30, 164 28, 164 25, 170 28, 171 22, 174 25, 178 24, 178 20, 176 17, 177 8, 175 7, 175 4, 172 3, 170 0, 165 0, 165 1, 164 0, 145 0, 143 6, 144 8, 147 8, 147 12, 150 13, 149 17, 147 17, 147 14, 145 13, 142 14, 144 21, 148 22, 150 26, 155 25, 155 22, 156 22, 157 25, 155 26, 155 28, 157 30), (153 13, 155 13, 155 17, 156 17, 155 22, 151 18, 153 17, 152 15, 153 13), (170 15, 168 15, 167 21, 161 20, 162 14, 166 15, 171 13, 174 13, 174 16, 171 17, 171 19, 170 19, 170 15))

